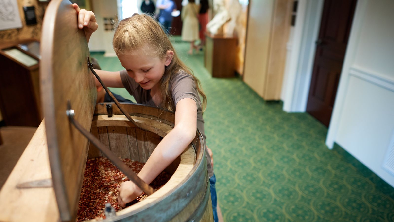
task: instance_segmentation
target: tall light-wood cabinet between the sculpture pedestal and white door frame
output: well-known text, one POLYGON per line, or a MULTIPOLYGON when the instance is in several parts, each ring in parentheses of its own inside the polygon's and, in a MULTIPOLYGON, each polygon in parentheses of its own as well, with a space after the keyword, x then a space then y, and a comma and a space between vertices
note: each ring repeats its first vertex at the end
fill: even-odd
POLYGON ((243 80, 265 100, 281 99, 292 3, 249 2, 243 80))

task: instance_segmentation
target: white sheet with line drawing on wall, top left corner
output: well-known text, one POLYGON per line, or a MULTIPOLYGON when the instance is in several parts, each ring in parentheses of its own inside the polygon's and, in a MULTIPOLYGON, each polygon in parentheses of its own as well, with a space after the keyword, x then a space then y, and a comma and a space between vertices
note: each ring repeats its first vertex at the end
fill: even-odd
POLYGON ((0 0, 0 30, 22 28, 17 0, 0 0))

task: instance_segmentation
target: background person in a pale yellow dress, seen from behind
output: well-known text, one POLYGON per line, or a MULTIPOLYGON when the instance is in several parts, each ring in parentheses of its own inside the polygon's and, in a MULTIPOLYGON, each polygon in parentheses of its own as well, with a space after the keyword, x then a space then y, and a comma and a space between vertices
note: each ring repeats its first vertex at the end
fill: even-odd
POLYGON ((193 49, 197 49, 194 43, 199 39, 199 11, 200 5, 195 4, 194 0, 189 0, 189 3, 182 8, 182 41, 190 42, 190 50, 188 51, 190 55, 193 54, 193 49))

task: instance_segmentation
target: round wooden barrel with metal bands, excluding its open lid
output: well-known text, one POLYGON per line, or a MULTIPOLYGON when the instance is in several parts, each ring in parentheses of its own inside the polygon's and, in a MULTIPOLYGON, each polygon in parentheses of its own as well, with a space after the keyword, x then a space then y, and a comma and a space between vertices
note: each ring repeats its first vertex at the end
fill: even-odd
MULTIPOLYGON (((97 104, 91 131, 120 157, 146 162, 161 138, 171 131, 174 114, 140 104, 122 105, 147 131, 136 128, 114 104, 114 115, 109 118, 105 103, 97 104)), ((180 155, 179 162, 169 167, 173 175, 162 188, 144 201, 119 211, 116 218, 108 221, 213 221, 203 144, 197 133, 193 143, 180 155)), ((99 151, 90 146, 89 157, 98 156, 99 151)))

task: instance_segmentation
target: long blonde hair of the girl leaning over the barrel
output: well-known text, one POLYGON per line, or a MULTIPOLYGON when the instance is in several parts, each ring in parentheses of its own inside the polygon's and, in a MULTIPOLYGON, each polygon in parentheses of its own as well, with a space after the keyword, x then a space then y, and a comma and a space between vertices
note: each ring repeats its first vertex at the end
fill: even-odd
POLYGON ((177 53, 162 27, 154 18, 146 14, 135 13, 132 17, 123 19, 117 25, 113 36, 113 49, 116 54, 130 54, 131 52, 145 52, 147 55, 158 56, 165 59, 169 50, 174 52, 171 63, 165 67, 164 75, 160 80, 160 91, 162 93, 162 104, 164 108, 175 112, 175 104, 172 99, 169 82, 172 74, 185 71, 193 77, 198 93, 203 97, 203 112, 206 108, 206 95, 201 88, 200 80, 193 72, 178 58, 177 53))

